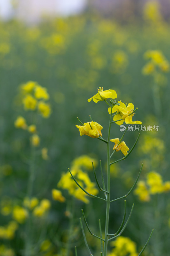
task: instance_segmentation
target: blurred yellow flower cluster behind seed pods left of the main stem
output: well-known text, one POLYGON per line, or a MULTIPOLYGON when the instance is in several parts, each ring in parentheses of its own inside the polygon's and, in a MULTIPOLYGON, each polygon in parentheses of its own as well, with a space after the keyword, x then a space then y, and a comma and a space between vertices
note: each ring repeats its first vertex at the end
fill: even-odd
MULTIPOLYGON (((95 183, 90 180, 89 175, 87 172, 84 172, 82 168, 86 170, 92 169, 92 162, 93 165, 96 166, 97 162, 96 159, 93 159, 89 156, 80 156, 78 158, 75 158, 72 162, 71 166, 71 173, 76 178, 78 183, 90 194, 97 195, 98 190, 95 187, 95 183)), ((75 181, 72 179, 70 172, 63 173, 61 176, 61 179, 59 180, 57 184, 58 188, 66 189, 68 190, 69 194, 71 196, 74 196, 78 200, 83 201, 84 203, 89 203, 89 200, 87 199, 87 194, 85 194, 84 191, 81 190, 75 183, 75 181)), ((58 200, 60 202, 64 202, 63 196, 58 192, 58 190, 52 191, 53 199, 58 200)))

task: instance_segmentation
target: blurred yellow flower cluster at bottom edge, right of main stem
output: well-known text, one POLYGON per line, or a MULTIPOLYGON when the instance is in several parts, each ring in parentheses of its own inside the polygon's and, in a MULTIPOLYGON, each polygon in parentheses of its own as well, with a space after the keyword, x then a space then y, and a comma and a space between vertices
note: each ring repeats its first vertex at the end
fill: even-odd
POLYGON ((129 237, 119 236, 114 242, 110 243, 114 248, 108 256, 137 256, 137 245, 129 237))

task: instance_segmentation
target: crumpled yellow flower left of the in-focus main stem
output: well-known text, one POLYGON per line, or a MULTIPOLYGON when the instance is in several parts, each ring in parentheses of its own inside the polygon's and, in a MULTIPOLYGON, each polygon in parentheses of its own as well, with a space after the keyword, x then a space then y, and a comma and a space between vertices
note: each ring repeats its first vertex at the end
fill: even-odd
POLYGON ((101 130, 103 129, 103 127, 96 122, 92 121, 92 122, 84 123, 84 125, 76 125, 76 127, 80 132, 80 136, 88 135, 92 138, 99 138, 99 136, 102 136, 101 130))

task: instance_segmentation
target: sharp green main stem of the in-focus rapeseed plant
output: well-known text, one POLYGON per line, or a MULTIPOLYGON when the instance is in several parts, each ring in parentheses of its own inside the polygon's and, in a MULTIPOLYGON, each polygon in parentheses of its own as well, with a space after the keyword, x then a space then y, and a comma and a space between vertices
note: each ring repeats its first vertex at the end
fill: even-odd
POLYGON ((110 127, 111 127, 111 120, 112 120, 112 107, 110 110, 110 120, 109 120, 109 127, 108 127, 108 136, 107 136, 107 203, 106 203, 106 223, 105 223, 105 243, 104 243, 104 251, 103 256, 107 255, 107 234, 108 234, 108 227, 109 227, 109 211, 110 211, 110 127))

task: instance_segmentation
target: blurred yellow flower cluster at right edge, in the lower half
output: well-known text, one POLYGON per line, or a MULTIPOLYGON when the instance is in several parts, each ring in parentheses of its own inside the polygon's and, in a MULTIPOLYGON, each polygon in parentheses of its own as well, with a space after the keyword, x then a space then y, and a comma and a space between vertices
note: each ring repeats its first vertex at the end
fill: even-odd
POLYGON ((141 201, 148 202, 151 195, 161 194, 170 191, 170 181, 163 182, 162 176, 157 172, 149 172, 146 181, 141 180, 137 183, 134 194, 141 201))

